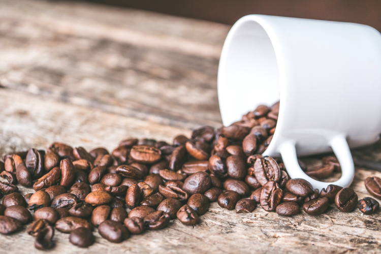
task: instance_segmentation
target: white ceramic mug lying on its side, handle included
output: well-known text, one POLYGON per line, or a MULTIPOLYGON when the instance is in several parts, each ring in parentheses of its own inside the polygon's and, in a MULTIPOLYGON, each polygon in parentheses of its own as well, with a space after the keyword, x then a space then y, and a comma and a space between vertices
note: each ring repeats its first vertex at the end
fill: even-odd
POLYGON ((314 188, 349 186, 350 147, 371 144, 381 132, 381 36, 367 25, 248 15, 230 30, 218 68, 224 125, 258 105, 280 99, 273 139, 264 155, 281 155, 291 178, 314 188), (297 155, 332 151, 341 178, 320 182, 297 155))

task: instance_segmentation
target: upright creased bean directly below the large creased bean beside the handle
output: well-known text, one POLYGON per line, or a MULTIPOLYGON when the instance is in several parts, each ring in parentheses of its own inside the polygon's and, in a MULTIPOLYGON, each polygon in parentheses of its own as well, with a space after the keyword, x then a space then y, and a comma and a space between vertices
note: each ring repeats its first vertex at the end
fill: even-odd
POLYGON ((282 200, 283 192, 275 181, 268 181, 262 187, 261 206, 266 211, 275 211, 276 207, 282 200))

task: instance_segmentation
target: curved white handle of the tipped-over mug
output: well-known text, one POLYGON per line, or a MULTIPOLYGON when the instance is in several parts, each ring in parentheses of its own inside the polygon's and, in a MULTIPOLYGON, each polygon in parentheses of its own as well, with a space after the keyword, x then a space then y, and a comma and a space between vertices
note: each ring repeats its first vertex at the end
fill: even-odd
POLYGON ((335 182, 321 182, 306 175, 299 166, 295 144, 294 140, 288 140, 279 146, 283 164, 286 169, 290 169, 287 173, 291 178, 303 178, 309 181, 314 188, 319 189, 319 192, 329 184, 335 184, 341 187, 348 187, 351 185, 353 178, 355 177, 355 165, 344 134, 336 135, 329 141, 329 145, 341 166, 341 177, 335 182))

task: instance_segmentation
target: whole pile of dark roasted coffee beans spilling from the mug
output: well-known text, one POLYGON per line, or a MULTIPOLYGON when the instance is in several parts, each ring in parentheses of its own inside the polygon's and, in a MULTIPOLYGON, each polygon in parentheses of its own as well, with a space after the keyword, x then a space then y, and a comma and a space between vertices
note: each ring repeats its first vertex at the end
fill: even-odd
MULTIPOLYGON (((259 106, 230 126, 204 126, 190 138, 175 137, 172 144, 129 138, 110 153, 55 142, 47 151, 6 154, 0 162, 5 179, 0 182, 0 195, 5 195, 0 233, 11 234, 33 221, 26 233, 35 237, 38 249, 54 245, 55 230, 87 247, 94 242, 94 227, 119 243, 130 234, 160 230, 176 218, 196 225, 210 202, 236 213, 250 213, 259 203, 282 216, 298 214, 300 206, 318 215, 329 203, 342 212, 356 206, 364 214, 375 212, 375 199, 358 201, 352 188, 331 184, 319 193, 304 179, 290 179, 279 158, 261 155, 275 132, 278 112, 279 103, 259 106), (17 183, 33 186, 35 193, 22 196, 17 183)), ((341 171, 333 156, 312 169, 299 164, 315 179, 341 171)), ((370 177, 365 185, 381 198, 380 178, 370 177)))

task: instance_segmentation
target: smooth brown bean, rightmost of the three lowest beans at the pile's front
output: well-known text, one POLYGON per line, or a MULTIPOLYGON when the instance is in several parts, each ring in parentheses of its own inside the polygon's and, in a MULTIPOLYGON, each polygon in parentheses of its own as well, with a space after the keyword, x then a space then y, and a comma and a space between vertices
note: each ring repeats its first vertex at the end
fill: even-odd
POLYGON ((103 238, 114 243, 122 242, 130 236, 128 229, 124 225, 110 219, 103 221, 99 225, 98 232, 103 238))

